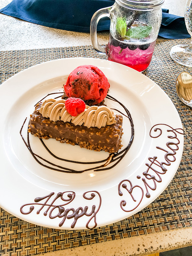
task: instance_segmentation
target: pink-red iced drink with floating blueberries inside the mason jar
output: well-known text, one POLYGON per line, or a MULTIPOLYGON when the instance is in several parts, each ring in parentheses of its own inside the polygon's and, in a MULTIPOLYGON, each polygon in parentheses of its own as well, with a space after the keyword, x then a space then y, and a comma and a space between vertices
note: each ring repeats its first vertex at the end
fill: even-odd
POLYGON ((115 61, 134 68, 139 72, 144 71, 150 64, 156 40, 144 42, 142 40, 118 41, 111 35, 106 47, 108 60, 115 61))

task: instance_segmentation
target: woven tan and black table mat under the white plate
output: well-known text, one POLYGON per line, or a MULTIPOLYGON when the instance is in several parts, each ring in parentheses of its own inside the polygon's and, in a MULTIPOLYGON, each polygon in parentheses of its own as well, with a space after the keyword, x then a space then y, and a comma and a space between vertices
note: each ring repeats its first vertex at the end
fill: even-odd
MULTIPOLYGON (((175 44, 189 40, 156 43, 150 66, 143 72, 154 80, 176 106, 184 128, 184 153, 180 167, 164 192, 145 209, 130 218, 92 230, 59 230, 40 227, 20 220, 0 208, 0 254, 34 255, 65 248, 138 236, 174 228, 192 226, 192 109, 182 104, 175 91, 181 66, 170 58, 175 44)), ((38 63, 70 57, 106 59, 91 46, 0 52, 0 84, 19 71, 38 63)))

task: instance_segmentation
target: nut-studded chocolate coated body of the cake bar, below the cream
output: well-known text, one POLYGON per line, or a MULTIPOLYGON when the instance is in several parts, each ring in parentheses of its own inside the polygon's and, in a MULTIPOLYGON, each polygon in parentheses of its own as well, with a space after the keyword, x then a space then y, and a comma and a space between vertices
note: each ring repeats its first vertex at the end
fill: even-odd
POLYGON ((43 117, 39 109, 42 102, 38 103, 35 111, 30 115, 28 132, 42 139, 53 138, 61 143, 72 145, 78 144, 81 148, 109 153, 117 152, 121 147, 121 137, 123 134, 123 117, 116 115, 116 123, 106 125, 100 129, 97 127, 86 127, 75 125, 71 122, 51 121, 43 117))

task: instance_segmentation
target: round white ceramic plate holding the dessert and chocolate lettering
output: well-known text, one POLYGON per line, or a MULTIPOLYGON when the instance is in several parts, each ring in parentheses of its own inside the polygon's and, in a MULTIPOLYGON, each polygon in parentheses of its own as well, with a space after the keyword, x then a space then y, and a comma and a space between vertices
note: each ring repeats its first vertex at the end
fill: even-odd
MULTIPOLYGON (((124 112, 113 101, 107 99, 106 103, 124 112)), ((182 124, 172 101, 147 76, 115 62, 68 58, 27 68, 0 86, 0 107, 0 205, 37 225, 84 229, 123 220, 155 200, 168 186, 180 164, 182 124), (134 140, 124 158, 110 170, 54 171, 36 162, 20 136, 20 128, 27 117, 22 130, 27 140, 27 124, 34 105, 48 93, 62 92, 69 73, 84 64, 97 66, 108 77, 111 85, 108 94, 121 101, 131 113, 134 140)), ((123 128, 122 143, 127 145, 131 128, 126 117, 123 128)), ((31 134, 29 138, 31 148, 52 161, 40 140, 31 134)), ((54 139, 45 142, 58 156, 71 160, 93 162, 108 156, 106 152, 54 139)), ((63 165, 84 168, 71 162, 63 165)))

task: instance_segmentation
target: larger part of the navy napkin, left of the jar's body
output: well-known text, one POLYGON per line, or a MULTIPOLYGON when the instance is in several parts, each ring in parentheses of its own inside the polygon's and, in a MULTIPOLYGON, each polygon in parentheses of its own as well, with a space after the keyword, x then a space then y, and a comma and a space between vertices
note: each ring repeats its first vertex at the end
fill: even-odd
MULTIPOLYGON (((114 0, 13 0, 1 13, 50 28, 89 32, 97 10, 114 0)), ((109 29, 110 19, 101 19, 98 30, 109 29)))

